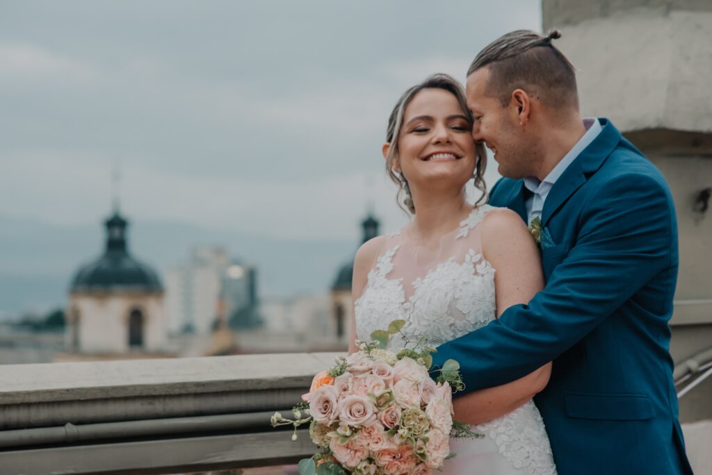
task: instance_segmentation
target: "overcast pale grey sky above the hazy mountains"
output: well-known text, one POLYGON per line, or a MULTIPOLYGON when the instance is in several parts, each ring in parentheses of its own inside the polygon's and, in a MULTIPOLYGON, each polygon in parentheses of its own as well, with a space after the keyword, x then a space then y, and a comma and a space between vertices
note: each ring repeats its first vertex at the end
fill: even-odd
MULTIPOLYGON (((256 235, 404 223, 380 147, 402 91, 464 80, 540 1, 0 1, 0 215, 110 209, 256 235)), ((495 167, 491 167, 491 172, 495 167)), ((489 173, 491 183, 493 173, 489 173)))

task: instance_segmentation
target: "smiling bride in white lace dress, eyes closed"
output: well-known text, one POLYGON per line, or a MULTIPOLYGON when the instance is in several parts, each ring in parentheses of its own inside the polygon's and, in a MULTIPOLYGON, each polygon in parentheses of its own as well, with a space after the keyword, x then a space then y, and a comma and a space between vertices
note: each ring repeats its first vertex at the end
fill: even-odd
MULTIPOLYGON (((405 319, 410 340, 438 346, 484 326, 543 288, 539 253, 513 211, 485 198, 483 144, 473 142, 464 91, 448 75, 411 87, 390 116, 383 155, 412 221, 366 242, 354 262, 352 335, 369 339, 405 319), (481 198, 466 201, 473 179, 481 198)), ((357 351, 353 341, 350 353, 357 351)), ((392 338, 389 345, 402 346, 392 338)), ((496 358, 493 353, 492 358, 496 358)), ((455 418, 484 439, 451 439, 446 474, 555 474, 543 421, 532 397, 551 363, 506 385, 454 400, 455 418)))

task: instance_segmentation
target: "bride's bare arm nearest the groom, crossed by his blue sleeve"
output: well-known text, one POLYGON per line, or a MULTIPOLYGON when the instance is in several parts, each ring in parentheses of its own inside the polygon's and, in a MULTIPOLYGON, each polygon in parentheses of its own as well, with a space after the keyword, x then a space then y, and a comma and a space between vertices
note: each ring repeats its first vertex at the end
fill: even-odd
MULTIPOLYGON (((539 251, 521 218, 511 210, 491 210, 482 222, 482 254, 495 269, 497 316, 525 304, 544 287, 539 251)), ((455 418, 480 424, 515 410, 545 388, 548 363, 523 378, 474 391, 454 400, 455 418)))

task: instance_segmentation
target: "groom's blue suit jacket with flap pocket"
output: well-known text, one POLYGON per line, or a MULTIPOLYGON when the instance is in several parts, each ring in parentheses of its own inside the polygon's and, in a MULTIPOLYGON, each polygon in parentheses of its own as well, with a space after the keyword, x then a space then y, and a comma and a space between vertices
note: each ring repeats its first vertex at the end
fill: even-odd
MULTIPOLYGON (((600 122, 544 204, 545 289, 439 346, 434 365, 459 361, 471 391, 553 361, 535 402, 560 475, 691 474, 669 355, 674 204, 661 173, 600 122)), ((526 193, 522 180, 502 178, 490 203, 526 221, 526 193)))

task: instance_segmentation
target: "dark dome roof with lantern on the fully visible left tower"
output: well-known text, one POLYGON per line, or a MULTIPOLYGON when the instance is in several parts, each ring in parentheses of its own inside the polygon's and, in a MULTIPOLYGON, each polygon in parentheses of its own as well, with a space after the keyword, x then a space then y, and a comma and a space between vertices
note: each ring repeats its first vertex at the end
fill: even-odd
POLYGON ((70 292, 134 290, 160 292, 163 287, 151 267, 135 260, 127 251, 127 220, 119 213, 106 223, 106 252, 98 260, 81 267, 75 274, 70 292))

